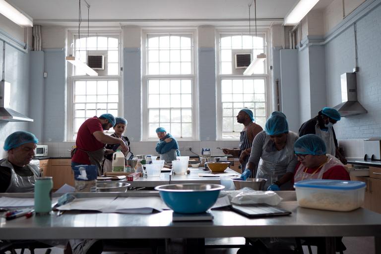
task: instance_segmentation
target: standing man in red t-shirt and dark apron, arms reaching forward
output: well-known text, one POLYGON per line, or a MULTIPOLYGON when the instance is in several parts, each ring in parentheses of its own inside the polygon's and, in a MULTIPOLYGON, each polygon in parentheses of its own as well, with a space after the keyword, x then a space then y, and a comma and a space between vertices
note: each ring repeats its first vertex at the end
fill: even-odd
POLYGON ((78 165, 96 165, 98 175, 102 175, 101 163, 105 155, 105 144, 120 144, 122 152, 127 152, 127 144, 121 138, 112 137, 103 131, 115 126, 115 118, 111 114, 103 114, 99 118, 87 119, 79 127, 75 140, 76 148, 71 157, 71 167, 78 165))

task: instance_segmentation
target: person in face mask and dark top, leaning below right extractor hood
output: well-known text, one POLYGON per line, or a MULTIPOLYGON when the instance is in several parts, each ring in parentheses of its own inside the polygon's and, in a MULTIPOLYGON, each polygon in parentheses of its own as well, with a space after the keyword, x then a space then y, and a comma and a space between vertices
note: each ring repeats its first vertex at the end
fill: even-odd
POLYGON ((305 122, 299 129, 299 136, 316 134, 324 140, 327 154, 331 154, 343 163, 347 164, 345 157, 339 152, 337 139, 333 125, 340 121, 340 113, 332 108, 324 107, 318 112, 318 116, 305 122))

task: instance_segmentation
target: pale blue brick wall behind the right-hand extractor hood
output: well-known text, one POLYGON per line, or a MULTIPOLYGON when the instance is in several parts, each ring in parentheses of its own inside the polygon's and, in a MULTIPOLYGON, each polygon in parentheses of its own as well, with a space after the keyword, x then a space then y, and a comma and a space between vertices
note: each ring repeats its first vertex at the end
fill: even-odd
POLYGON ((381 136, 381 0, 367 0, 350 18, 349 25, 325 45, 328 106, 340 103, 340 74, 355 66, 353 22, 357 22, 358 101, 368 114, 342 118, 335 125, 340 139, 381 136))

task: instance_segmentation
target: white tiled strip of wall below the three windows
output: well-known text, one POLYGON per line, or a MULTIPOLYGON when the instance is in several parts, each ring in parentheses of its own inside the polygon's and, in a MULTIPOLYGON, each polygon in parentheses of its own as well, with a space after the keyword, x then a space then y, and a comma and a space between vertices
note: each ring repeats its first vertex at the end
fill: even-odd
MULTIPOLYGON (((131 142, 131 152, 134 155, 138 154, 152 154, 158 155, 155 151, 156 141, 142 141, 142 142, 131 142)), ((75 145, 75 142, 44 142, 41 143, 48 145, 48 156, 70 156, 70 152, 67 150, 71 149, 71 146, 75 145)), ((216 149, 216 147, 227 147, 227 148, 238 148, 239 141, 180 141, 179 147, 180 152, 184 156, 195 156, 188 149, 192 148, 192 151, 196 154, 201 154, 202 147, 210 148, 212 155, 223 155, 222 151, 216 149)))

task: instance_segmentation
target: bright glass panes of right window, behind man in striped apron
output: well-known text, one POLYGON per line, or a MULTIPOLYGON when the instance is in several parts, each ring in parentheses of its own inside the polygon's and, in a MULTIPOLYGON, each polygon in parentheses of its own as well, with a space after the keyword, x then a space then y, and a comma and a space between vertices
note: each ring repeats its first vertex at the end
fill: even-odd
POLYGON ((266 120, 266 61, 255 66, 253 75, 244 76, 244 68, 236 66, 236 54, 265 53, 265 34, 249 35, 220 34, 219 40, 218 91, 218 137, 237 139, 243 125, 236 116, 243 108, 253 111, 255 123, 264 127, 266 120))

